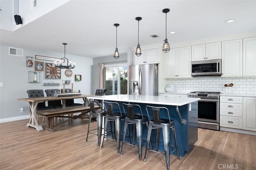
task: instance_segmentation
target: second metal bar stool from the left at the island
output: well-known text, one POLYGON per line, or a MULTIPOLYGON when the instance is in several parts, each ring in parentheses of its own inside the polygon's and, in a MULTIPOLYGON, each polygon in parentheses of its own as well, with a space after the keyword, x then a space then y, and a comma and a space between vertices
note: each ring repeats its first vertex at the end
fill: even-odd
MULTIPOLYGON (((114 121, 114 133, 116 140, 117 152, 119 153, 119 145, 120 145, 120 129, 121 129, 121 121, 125 120, 125 114, 121 112, 120 106, 117 102, 103 102, 104 108, 106 109, 106 121, 104 127, 104 138, 106 136, 106 129, 108 122, 114 121), (114 108, 115 107, 115 108, 114 108), (117 110, 117 111, 114 111, 117 110)), ((111 127, 111 123, 110 123, 111 127)), ((128 135, 130 137, 130 133, 128 131, 128 135)), ((102 141, 101 147, 104 146, 104 140, 102 141)))

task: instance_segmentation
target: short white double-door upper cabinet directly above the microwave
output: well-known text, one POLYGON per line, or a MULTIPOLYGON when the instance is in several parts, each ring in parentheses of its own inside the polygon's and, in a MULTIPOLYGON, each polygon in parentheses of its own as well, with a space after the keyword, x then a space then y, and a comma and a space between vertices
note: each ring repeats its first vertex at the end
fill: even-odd
POLYGON ((192 61, 221 59, 221 43, 193 45, 192 61))

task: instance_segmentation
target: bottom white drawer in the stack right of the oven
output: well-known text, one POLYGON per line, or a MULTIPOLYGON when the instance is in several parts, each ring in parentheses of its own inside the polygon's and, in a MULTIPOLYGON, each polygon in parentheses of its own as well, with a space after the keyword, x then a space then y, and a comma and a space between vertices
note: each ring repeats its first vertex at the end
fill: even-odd
POLYGON ((242 117, 220 115, 220 126, 242 129, 242 117))

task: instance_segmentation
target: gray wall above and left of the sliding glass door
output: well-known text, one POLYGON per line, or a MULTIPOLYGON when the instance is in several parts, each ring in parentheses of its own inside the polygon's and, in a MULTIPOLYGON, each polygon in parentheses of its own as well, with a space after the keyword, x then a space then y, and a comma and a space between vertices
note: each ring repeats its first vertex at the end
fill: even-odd
POLYGON ((92 80, 91 80, 91 93, 95 94, 96 89, 99 87, 99 81, 98 81, 98 63, 105 63, 105 64, 118 64, 118 63, 127 63, 127 53, 120 54, 118 59, 114 59, 114 53, 111 56, 106 57, 98 57, 93 59, 93 65, 92 65, 92 80))

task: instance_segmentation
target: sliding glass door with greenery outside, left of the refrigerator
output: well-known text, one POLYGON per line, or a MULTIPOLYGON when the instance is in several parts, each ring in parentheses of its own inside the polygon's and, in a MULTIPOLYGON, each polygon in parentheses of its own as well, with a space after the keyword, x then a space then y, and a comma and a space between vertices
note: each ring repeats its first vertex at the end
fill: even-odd
POLYGON ((127 94, 127 66, 106 67, 106 95, 127 94))

